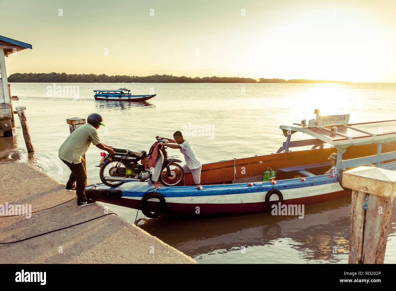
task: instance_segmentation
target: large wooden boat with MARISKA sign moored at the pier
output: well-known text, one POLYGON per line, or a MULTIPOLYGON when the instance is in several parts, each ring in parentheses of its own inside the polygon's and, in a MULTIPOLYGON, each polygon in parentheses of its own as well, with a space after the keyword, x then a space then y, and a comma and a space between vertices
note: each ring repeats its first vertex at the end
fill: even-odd
POLYGON ((319 116, 293 126, 280 126, 286 141, 275 154, 202 165, 202 187, 185 175, 186 186, 125 183, 118 188, 93 184, 86 188, 92 199, 141 209, 148 217, 171 215, 230 215, 268 211, 272 205, 310 204, 344 195, 342 173, 360 165, 396 170, 396 120, 349 124, 349 114, 319 116), (291 141, 295 132, 313 139, 291 141), (327 143, 333 147, 324 147, 327 143), (309 150, 289 148, 313 145, 309 150), (337 171, 324 174, 337 153, 337 171), (277 171, 276 181, 263 181, 263 172, 277 171), (280 204, 279 204, 280 203, 280 204))

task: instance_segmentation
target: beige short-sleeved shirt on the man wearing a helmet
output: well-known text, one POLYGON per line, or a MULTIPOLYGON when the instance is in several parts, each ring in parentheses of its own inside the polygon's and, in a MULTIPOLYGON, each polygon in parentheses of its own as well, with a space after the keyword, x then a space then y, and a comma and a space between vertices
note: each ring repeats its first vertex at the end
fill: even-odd
POLYGON ((84 124, 74 130, 59 148, 58 157, 66 162, 79 164, 81 156, 89 146, 101 143, 98 132, 91 124, 84 124))

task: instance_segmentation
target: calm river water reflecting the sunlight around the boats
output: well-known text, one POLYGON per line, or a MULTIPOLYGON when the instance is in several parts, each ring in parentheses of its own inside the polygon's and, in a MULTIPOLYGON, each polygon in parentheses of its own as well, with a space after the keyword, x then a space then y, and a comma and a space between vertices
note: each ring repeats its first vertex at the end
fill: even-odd
MULTIPOLYGON (((276 152, 285 139, 279 126, 314 118, 315 108, 321 115, 348 113, 351 123, 396 119, 396 84, 56 84, 76 86, 78 98, 56 96, 47 86, 53 84, 11 84, 12 95, 19 97, 14 106, 27 108, 35 152, 27 153, 17 118, 17 135, 0 138, 0 158, 2 163, 29 162, 61 183, 66 183, 70 173, 58 158, 59 146, 69 135, 66 119, 87 118, 92 112, 104 118, 106 127, 98 130, 103 143, 133 150, 148 150, 156 135, 172 137, 189 125, 208 126, 210 135, 186 137, 203 164, 276 152), (120 87, 135 95, 154 91, 157 96, 144 103, 93 99, 93 89, 120 87)), ((309 137, 296 133, 293 138, 309 137)), ((180 154, 170 148, 168 153, 180 154)), ((99 168, 94 167, 100 158, 100 150, 91 146, 89 183, 100 182, 99 168)), ((101 204, 135 221, 135 209, 101 204)), ((385 263, 396 263, 395 209, 385 263)), ((147 219, 140 211, 137 219, 139 227, 199 263, 348 262, 350 197, 305 205, 304 219, 268 212, 147 219), (333 253, 334 246, 337 253, 333 253)))

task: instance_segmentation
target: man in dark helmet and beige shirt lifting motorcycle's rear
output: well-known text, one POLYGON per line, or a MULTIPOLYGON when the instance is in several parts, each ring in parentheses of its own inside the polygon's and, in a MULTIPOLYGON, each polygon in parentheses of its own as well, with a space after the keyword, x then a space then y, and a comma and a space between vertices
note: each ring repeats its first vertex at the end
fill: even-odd
POLYGON ((70 133, 58 152, 59 158, 72 172, 65 190, 76 190, 78 207, 95 203, 94 200, 85 196, 87 173, 85 171, 85 160, 82 156, 86 153, 91 143, 101 150, 106 150, 109 154, 114 154, 114 150, 101 143, 99 139, 97 129, 101 125, 105 126, 102 116, 97 113, 89 114, 87 122, 87 124, 78 127, 70 133), (77 184, 76 186, 75 183, 77 184))

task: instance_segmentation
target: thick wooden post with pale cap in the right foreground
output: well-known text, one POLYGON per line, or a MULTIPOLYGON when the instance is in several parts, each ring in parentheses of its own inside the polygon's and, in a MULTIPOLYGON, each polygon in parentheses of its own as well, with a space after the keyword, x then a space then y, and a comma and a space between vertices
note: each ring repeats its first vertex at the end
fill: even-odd
POLYGON ((383 264, 396 172, 357 167, 343 173, 343 186, 352 189, 348 264, 383 264))

